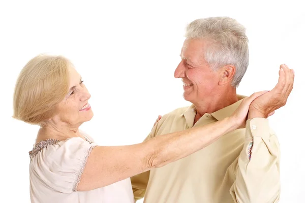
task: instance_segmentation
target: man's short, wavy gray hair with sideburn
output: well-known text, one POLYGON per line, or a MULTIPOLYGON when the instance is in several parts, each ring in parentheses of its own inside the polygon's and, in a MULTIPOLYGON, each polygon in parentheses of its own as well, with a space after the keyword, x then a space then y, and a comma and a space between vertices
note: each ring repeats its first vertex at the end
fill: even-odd
POLYGON ((212 70, 224 65, 236 68, 231 85, 237 87, 249 64, 246 28, 229 17, 196 19, 188 24, 186 38, 204 39, 211 42, 205 47, 205 60, 212 70))

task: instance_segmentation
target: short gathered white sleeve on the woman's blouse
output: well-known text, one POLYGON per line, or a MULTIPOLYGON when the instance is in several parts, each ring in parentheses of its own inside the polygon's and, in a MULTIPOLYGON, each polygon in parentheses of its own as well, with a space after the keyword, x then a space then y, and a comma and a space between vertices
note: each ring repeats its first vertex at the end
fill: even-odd
POLYGON ((96 146, 81 138, 48 146, 35 157, 35 172, 52 189, 71 193, 76 190, 87 158, 96 146))

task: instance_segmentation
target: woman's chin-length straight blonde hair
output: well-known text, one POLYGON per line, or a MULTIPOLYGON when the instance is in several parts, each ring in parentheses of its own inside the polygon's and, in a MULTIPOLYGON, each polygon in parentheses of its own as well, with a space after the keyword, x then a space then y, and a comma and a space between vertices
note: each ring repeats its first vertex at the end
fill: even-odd
POLYGON ((68 93, 69 65, 63 56, 38 55, 28 61, 16 82, 13 118, 42 126, 54 116, 68 93))

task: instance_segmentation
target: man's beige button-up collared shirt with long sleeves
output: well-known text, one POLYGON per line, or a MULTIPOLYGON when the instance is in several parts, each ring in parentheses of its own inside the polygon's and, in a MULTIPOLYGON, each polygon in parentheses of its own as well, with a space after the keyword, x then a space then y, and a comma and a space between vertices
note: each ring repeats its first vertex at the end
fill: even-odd
MULTIPOLYGON (((241 100, 194 125, 192 105, 162 117, 146 139, 229 117, 241 100)), ((225 134, 206 148, 131 178, 135 199, 146 203, 268 203, 280 198, 280 147, 268 120, 225 134)))

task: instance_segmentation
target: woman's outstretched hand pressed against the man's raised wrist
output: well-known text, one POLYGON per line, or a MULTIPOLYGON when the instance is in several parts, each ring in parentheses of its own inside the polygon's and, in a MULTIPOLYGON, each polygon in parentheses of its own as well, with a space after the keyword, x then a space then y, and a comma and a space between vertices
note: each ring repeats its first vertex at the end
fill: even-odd
MULTIPOLYGON (((233 123, 235 129, 246 127, 246 121, 247 121, 247 118, 248 118, 249 107, 250 107, 252 101, 254 99, 256 99, 257 97, 267 93, 268 91, 269 90, 255 92, 251 96, 247 96, 241 101, 241 104, 239 105, 239 107, 229 117, 229 119, 233 123)), ((275 112, 273 111, 268 116, 271 116, 274 113, 275 112)))

